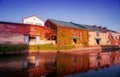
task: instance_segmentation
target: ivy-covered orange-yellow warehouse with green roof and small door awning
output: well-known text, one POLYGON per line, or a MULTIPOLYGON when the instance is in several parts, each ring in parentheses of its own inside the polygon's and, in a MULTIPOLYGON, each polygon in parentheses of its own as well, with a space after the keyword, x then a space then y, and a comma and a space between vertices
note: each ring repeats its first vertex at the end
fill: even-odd
POLYGON ((45 26, 54 30, 57 44, 88 45, 88 31, 75 26, 72 22, 50 19, 46 21, 45 26))

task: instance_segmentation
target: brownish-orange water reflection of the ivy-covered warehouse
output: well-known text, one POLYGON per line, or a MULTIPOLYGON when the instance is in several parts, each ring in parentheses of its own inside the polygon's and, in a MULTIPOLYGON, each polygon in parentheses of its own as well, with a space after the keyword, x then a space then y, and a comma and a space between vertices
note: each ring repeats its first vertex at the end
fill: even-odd
POLYGON ((89 70, 88 54, 73 55, 59 54, 57 57, 57 75, 63 76, 78 72, 87 72, 89 70), (63 71, 64 70, 64 71, 63 71))

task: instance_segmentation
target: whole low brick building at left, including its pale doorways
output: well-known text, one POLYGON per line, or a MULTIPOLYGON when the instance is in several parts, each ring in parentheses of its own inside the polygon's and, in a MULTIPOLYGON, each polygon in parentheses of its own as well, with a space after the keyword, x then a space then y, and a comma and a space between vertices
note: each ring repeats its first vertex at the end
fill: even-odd
POLYGON ((32 45, 54 43, 52 40, 46 40, 46 35, 52 33, 53 30, 43 26, 0 22, 0 43, 32 45))

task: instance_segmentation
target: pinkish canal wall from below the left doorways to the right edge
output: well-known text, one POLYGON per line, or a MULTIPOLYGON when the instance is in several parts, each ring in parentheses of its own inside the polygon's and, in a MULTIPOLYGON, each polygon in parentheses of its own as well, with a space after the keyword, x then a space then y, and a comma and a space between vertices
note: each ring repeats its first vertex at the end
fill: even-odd
POLYGON ((88 52, 102 52, 102 51, 115 51, 120 50, 120 46, 117 45, 104 45, 104 46, 86 46, 86 47, 77 47, 70 50, 39 50, 39 51, 29 51, 29 54, 36 52, 42 53, 58 53, 58 52, 68 52, 68 53, 88 53, 88 52))

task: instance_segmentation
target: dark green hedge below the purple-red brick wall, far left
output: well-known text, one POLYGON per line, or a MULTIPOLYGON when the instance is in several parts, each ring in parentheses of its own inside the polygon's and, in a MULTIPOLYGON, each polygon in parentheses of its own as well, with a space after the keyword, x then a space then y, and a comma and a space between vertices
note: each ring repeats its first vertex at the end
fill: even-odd
POLYGON ((8 51, 22 51, 27 50, 27 45, 24 44, 0 44, 0 52, 8 52, 8 51))

